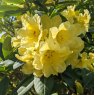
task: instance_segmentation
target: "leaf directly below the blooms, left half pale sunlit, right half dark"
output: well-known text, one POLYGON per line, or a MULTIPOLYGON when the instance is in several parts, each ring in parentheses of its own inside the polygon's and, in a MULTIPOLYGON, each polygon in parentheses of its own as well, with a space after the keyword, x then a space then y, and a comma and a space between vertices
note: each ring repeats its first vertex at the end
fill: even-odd
POLYGON ((34 78, 34 88, 38 95, 50 95, 54 86, 53 77, 34 78))

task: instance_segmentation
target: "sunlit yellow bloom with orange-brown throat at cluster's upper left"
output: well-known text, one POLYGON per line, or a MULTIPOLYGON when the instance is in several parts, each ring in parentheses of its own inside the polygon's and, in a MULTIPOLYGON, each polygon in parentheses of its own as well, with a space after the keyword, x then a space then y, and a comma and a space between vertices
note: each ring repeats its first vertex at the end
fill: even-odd
POLYGON ((37 41, 40 34, 40 18, 38 15, 35 15, 34 18, 31 18, 27 15, 22 16, 23 28, 17 32, 17 35, 21 37, 31 37, 33 41, 37 41))

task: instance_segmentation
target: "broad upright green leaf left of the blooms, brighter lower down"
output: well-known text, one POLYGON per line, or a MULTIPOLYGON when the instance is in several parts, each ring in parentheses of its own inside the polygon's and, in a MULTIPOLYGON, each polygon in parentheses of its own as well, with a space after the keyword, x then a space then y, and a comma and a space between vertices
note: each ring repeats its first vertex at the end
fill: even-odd
POLYGON ((13 50, 11 46, 11 37, 6 37, 2 46, 2 52, 5 59, 13 58, 13 50))

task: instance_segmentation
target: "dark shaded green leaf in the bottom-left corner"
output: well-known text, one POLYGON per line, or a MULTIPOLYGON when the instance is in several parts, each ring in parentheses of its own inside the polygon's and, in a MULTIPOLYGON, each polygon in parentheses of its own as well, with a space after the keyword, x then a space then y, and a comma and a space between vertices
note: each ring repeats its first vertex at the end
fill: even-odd
POLYGON ((0 82, 0 95, 6 95, 9 86, 9 79, 4 77, 0 82))

